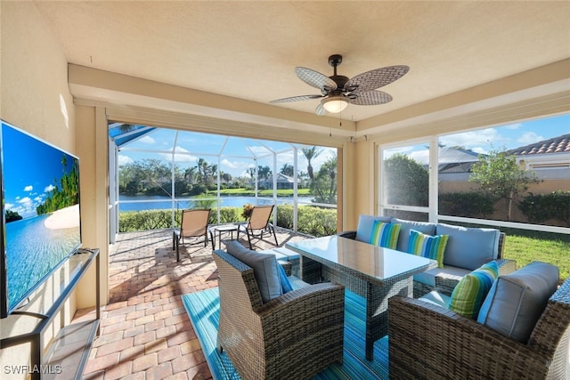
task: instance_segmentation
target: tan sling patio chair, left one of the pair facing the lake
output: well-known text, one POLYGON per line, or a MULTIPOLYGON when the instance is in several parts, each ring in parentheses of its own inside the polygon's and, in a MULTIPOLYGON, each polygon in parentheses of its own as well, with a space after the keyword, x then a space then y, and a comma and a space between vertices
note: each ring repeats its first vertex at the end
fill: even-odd
POLYGON ((208 221, 210 218, 209 208, 187 209, 182 211, 182 222, 180 222, 180 230, 174 230, 172 234, 172 249, 176 249, 176 262, 180 261, 180 241, 184 244, 184 239, 204 237, 204 247, 208 246, 209 239, 212 240, 212 250, 214 246, 214 237, 212 231, 208 229, 208 221))

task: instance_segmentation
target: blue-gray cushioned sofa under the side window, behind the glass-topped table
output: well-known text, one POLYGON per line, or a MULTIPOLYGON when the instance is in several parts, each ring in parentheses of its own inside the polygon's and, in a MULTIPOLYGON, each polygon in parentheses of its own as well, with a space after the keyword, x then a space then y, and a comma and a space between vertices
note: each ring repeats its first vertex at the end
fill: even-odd
POLYGON ((449 235, 444 252, 444 267, 430 269, 414 276, 414 298, 433 290, 451 295, 463 276, 491 260, 497 260, 500 274, 517 270, 515 261, 502 258, 505 234, 495 229, 465 228, 444 223, 414 222, 389 216, 361 214, 357 230, 342 231, 338 236, 369 242, 371 225, 375 221, 400 224, 396 249, 402 252, 408 252, 410 230, 427 235, 449 235))

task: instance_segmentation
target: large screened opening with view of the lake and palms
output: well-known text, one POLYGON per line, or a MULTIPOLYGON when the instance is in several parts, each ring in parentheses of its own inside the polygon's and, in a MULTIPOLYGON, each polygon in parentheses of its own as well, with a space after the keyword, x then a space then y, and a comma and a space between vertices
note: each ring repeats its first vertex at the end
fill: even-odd
POLYGON ((294 231, 310 207, 326 212, 322 233, 336 231, 336 148, 123 123, 109 124, 109 144, 111 239, 149 210, 167 215, 156 228, 174 228, 185 208, 224 223, 243 221, 246 205, 275 205, 273 224, 294 231))

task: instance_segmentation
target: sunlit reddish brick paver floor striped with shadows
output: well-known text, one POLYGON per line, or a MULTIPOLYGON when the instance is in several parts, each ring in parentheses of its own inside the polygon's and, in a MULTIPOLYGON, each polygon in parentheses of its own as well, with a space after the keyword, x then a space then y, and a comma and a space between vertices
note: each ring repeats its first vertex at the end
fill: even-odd
MULTIPOLYGON (((276 233, 280 246, 306 239, 281 228, 276 233)), ((247 236, 243 238, 247 247, 247 236)), ((274 247, 272 241, 252 244, 262 250, 274 247)), ((110 302, 102 307, 101 336, 84 379, 212 378, 181 301, 183 294, 217 287, 211 249, 201 242, 181 247, 176 263, 172 230, 118 235, 110 251, 110 302)), ((77 311, 75 320, 82 318, 93 319, 93 309, 77 311)))

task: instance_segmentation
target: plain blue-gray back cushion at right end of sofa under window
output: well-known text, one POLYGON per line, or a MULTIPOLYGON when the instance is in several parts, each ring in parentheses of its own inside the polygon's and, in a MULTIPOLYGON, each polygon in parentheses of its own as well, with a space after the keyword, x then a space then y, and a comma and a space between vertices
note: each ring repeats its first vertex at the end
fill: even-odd
POLYGON ((444 265, 475 271, 499 255, 500 230, 466 228, 439 223, 436 235, 449 235, 444 253, 444 265))

